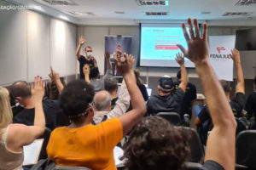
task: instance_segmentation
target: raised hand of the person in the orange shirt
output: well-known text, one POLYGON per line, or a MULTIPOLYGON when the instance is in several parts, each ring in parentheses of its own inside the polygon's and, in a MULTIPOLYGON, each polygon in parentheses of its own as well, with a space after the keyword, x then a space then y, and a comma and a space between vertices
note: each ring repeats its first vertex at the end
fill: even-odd
POLYGON ((121 57, 118 57, 117 54, 114 53, 113 58, 116 69, 122 76, 125 76, 125 74, 129 73, 129 71, 132 71, 134 59, 131 54, 121 54, 121 57))

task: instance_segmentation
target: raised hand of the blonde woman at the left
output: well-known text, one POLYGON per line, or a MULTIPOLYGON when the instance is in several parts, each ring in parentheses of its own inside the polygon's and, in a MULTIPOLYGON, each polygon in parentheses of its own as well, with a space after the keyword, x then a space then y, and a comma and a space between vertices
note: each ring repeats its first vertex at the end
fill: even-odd
POLYGON ((42 102, 44 98, 45 83, 42 81, 42 77, 35 77, 34 83, 31 84, 32 99, 36 102, 42 102))

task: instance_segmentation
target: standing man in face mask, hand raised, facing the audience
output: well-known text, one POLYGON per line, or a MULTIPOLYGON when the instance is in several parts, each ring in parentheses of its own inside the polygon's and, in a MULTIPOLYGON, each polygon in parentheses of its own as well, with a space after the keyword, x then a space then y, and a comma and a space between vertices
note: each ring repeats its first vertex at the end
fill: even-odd
POLYGON ((90 69, 98 67, 96 59, 94 58, 92 54, 92 48, 90 46, 86 46, 84 48, 84 55, 80 55, 80 49, 84 45, 85 39, 84 37, 79 38, 79 47, 77 48, 76 51, 76 56, 79 60, 79 70, 80 70, 80 79, 84 79, 84 72, 83 72, 83 67, 84 65, 90 65, 90 69))

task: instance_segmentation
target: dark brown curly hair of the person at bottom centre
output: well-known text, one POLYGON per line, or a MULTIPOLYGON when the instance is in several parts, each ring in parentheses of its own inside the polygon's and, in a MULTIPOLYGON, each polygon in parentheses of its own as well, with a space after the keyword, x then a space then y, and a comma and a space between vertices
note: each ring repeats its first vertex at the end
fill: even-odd
POLYGON ((131 131, 125 143, 128 170, 182 169, 189 156, 188 138, 160 116, 148 116, 131 131))

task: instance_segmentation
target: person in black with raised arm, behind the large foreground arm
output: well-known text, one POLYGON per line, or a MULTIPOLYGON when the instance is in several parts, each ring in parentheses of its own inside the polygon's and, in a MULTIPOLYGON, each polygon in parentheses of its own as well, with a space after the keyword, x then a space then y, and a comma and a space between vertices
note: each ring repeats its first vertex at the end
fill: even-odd
MULTIPOLYGON (((244 89, 244 78, 241 69, 241 60, 240 60, 240 53, 237 49, 231 50, 231 59, 234 60, 236 65, 236 74, 237 74, 237 84, 236 84, 236 98, 230 99, 230 82, 225 80, 220 80, 220 84, 224 89, 225 97, 230 102, 230 106, 233 111, 233 115, 237 118, 244 116, 243 108, 246 103, 245 97, 245 89, 244 89)), ((237 120, 239 121, 239 120, 237 120)), ((201 126, 203 123, 207 122, 207 125, 201 127, 201 139, 202 143, 206 144, 208 132, 212 129, 212 118, 208 111, 208 106, 204 106, 200 114, 195 118, 195 125, 197 127, 201 126)), ((238 133, 238 132, 237 132, 238 133)))

